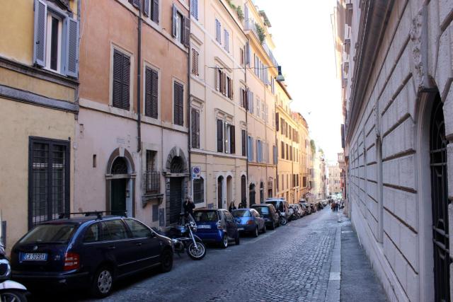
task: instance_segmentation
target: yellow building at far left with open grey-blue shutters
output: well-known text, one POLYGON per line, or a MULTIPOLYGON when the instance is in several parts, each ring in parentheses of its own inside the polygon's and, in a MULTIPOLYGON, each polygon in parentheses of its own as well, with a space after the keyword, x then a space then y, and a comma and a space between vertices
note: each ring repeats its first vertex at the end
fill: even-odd
POLYGON ((1 233, 7 250, 74 205, 79 1, 3 1, 1 233))

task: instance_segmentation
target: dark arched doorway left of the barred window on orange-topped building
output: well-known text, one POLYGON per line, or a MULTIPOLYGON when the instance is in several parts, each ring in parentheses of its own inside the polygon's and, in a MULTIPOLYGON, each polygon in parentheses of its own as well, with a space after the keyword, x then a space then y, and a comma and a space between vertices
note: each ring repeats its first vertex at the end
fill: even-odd
POLYGON ((132 215, 128 170, 126 158, 120 156, 115 158, 110 168, 110 173, 113 175, 110 180, 110 211, 113 215, 132 215))

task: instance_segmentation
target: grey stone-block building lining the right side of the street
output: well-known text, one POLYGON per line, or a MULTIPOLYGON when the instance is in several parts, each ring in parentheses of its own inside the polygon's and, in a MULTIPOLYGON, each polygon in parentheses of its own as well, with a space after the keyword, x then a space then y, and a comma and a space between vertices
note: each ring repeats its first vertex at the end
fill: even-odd
POLYGON ((451 301, 452 2, 337 11, 352 223, 389 300, 451 301))

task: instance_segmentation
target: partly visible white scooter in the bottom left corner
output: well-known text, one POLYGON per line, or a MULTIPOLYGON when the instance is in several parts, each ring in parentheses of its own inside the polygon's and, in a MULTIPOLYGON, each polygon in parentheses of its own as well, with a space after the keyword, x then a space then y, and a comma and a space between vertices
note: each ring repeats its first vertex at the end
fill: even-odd
POLYGON ((28 291, 22 284, 11 281, 11 266, 6 259, 5 248, 0 243, 0 301, 27 302, 28 291))

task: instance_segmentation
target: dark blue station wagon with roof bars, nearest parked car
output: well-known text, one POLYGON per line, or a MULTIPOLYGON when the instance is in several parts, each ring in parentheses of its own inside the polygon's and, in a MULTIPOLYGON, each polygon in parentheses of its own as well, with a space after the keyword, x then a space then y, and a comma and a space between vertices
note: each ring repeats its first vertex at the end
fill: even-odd
POLYGON ((30 289, 85 287, 98 297, 108 296, 118 278, 155 266, 171 270, 171 239, 120 216, 48 221, 28 231, 11 251, 12 278, 30 289))

